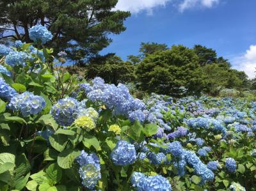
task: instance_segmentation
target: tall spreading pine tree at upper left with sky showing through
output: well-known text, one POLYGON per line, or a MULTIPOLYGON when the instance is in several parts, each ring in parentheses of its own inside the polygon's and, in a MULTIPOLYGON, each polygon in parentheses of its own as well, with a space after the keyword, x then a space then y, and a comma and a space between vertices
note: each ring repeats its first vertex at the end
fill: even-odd
POLYGON ((42 24, 52 32, 49 42, 77 61, 111 43, 108 34, 125 30, 131 14, 113 10, 118 0, 0 0, 0 40, 31 42, 28 30, 42 24))

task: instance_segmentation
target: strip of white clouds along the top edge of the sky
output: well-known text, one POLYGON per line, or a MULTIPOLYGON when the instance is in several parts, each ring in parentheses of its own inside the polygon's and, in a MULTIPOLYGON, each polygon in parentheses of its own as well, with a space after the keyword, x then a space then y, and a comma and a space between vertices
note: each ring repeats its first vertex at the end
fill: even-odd
POLYGON ((157 6, 165 6, 170 2, 183 12, 191 8, 211 8, 220 0, 119 0, 115 10, 131 11, 131 13, 140 13, 145 10, 151 14, 157 6))

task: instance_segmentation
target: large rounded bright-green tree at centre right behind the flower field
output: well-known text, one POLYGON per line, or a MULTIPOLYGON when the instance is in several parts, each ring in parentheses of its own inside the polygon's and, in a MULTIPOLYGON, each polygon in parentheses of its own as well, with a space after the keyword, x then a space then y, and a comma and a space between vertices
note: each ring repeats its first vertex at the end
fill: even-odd
POLYGON ((147 92, 179 95, 183 87, 188 89, 188 93, 198 93, 198 60, 193 49, 182 45, 150 54, 136 70, 139 88, 147 92))

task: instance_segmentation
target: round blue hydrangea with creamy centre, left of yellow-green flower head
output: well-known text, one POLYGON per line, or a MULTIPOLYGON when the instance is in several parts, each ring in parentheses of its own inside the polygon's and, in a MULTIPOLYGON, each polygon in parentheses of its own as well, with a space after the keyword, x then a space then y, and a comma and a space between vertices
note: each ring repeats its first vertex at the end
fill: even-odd
POLYGON ((77 118, 80 103, 74 98, 63 98, 59 100, 51 109, 51 114, 59 125, 69 126, 77 118))

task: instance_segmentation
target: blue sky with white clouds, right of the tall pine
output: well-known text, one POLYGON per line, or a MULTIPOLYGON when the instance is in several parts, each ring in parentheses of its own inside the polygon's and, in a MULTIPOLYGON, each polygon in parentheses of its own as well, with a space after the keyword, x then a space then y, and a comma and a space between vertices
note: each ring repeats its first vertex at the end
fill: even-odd
POLYGON ((254 77, 256 68, 255 0, 120 0, 116 9, 129 10, 127 30, 112 35, 102 54, 126 59, 139 54, 141 42, 168 46, 211 47, 233 67, 254 77))

